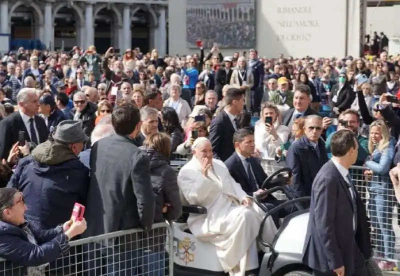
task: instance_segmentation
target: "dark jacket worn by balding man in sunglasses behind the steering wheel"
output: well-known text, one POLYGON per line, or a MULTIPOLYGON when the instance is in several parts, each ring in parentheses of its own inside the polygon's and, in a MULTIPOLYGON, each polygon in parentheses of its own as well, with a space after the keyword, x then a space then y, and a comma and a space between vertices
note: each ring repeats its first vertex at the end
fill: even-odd
POLYGON ((286 154, 286 164, 293 171, 293 182, 288 187, 296 197, 307 197, 319 169, 328 161, 326 148, 318 141, 319 157, 306 136, 291 144, 286 154))

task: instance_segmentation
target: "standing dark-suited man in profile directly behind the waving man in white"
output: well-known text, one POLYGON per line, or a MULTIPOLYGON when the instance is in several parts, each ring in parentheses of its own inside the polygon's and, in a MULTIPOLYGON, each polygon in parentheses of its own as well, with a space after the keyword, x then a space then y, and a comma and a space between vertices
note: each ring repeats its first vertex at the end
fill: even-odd
POLYGON ((211 121, 209 140, 214 158, 225 161, 234 152, 233 134, 239 128, 236 115, 244 106, 244 90, 229 88, 225 95, 225 108, 211 121))

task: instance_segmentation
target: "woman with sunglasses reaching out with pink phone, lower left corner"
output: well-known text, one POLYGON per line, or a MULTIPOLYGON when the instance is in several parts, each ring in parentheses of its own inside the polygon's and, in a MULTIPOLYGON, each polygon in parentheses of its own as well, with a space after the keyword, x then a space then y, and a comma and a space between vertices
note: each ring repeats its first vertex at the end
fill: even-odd
MULTIPOLYGON (((0 257, 13 263, 19 275, 44 275, 48 263, 69 251, 68 242, 86 230, 84 218, 43 230, 25 220, 27 207, 21 192, 0 188, 0 257)), ((0 270, 1 271, 1 270, 0 270)))

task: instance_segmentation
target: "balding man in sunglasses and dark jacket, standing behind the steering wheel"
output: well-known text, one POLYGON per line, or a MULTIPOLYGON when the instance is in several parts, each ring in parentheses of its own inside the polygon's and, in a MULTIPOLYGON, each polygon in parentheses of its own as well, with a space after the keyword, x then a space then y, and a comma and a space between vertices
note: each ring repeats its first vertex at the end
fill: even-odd
POLYGON ((311 184, 319 169, 328 161, 322 118, 308 115, 304 121, 304 136, 293 143, 286 154, 286 164, 293 171, 293 182, 288 188, 296 197, 311 196, 311 184))

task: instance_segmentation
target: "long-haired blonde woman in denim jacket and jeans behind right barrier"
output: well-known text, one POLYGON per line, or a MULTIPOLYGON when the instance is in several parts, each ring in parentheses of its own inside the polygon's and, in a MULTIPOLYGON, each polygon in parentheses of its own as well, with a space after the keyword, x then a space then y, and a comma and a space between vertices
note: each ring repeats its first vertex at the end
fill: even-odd
POLYGON ((396 266, 392 261, 395 258, 395 236, 391 226, 393 187, 389 179, 395 144, 389 128, 382 120, 373 121, 369 125, 368 150, 371 155, 365 161, 368 170, 364 175, 368 181, 369 218, 375 230, 376 253, 381 260, 378 266, 382 271, 391 271, 396 266))

